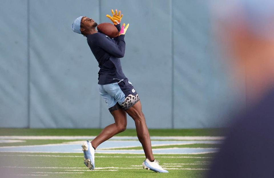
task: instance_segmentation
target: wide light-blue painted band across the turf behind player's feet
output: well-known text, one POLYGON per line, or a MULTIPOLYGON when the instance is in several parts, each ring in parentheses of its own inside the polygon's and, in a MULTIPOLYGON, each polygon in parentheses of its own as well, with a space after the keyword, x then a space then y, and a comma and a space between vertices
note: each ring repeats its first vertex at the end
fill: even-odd
MULTIPOLYGON (((152 146, 173 145, 173 144, 219 144, 221 141, 204 140, 204 141, 151 141, 152 146)), ((103 142, 96 149, 97 153, 130 153, 143 154, 143 150, 122 150, 127 147, 142 146, 139 141, 124 140, 108 140, 103 142), (120 148, 121 150, 108 150, 110 148, 120 148)), ((171 146, 172 147, 172 146, 171 146)), ((198 154, 204 152, 216 152, 217 148, 164 148, 154 149, 154 154, 198 154)), ((8 146, 0 147, 0 152, 47 152, 47 153, 81 153, 81 144, 63 143, 63 144, 47 144, 33 146, 8 146)))

